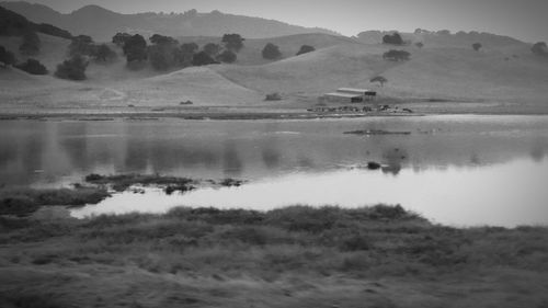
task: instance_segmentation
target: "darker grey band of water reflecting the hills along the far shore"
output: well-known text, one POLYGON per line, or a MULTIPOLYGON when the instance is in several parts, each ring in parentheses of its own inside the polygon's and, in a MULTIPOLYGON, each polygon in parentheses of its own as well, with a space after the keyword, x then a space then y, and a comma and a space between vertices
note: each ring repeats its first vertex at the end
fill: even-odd
POLYGON ((0 182, 80 181, 88 173, 158 172, 260 180, 381 162, 407 169, 541 161, 547 116, 426 116, 256 122, 0 122, 0 182), (346 130, 409 130, 352 136, 346 130))

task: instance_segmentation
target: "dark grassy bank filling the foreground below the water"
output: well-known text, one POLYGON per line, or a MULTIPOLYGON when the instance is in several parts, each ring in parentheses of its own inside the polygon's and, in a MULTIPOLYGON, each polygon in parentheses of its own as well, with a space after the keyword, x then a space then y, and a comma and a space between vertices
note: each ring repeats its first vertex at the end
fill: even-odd
POLYGON ((0 218, 1 307, 546 307, 547 274, 545 228, 399 206, 0 218))

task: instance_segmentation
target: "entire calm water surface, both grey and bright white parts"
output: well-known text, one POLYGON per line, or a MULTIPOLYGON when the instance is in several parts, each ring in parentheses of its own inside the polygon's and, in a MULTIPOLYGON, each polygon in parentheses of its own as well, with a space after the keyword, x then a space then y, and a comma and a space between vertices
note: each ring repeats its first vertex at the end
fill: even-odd
POLYGON ((161 213, 176 205, 399 203, 444 224, 548 224, 548 116, 3 121, 0 132, 2 185, 55 186, 91 172, 251 180, 184 195, 119 194, 75 216, 161 213), (356 129, 412 134, 343 135, 356 129), (372 160, 385 170, 361 168, 372 160))

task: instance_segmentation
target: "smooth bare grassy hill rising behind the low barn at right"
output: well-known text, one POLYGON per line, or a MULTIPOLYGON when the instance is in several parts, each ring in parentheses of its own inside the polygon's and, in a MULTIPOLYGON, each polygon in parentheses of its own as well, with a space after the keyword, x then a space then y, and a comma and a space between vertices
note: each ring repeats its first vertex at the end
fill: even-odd
POLYGON ((395 47, 342 43, 299 57, 250 67, 219 67, 219 73, 263 92, 320 95, 339 87, 375 88, 402 99, 543 101, 548 62, 526 45, 505 48, 395 47), (409 61, 386 61, 388 49, 406 49, 409 61), (370 84, 376 75, 389 81, 370 84))

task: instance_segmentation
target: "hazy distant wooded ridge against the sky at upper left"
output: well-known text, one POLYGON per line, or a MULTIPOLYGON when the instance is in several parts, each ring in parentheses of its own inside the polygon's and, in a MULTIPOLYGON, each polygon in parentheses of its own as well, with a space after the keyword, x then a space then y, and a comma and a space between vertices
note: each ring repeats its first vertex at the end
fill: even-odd
POLYGON ((121 14, 98 5, 88 5, 70 14, 61 14, 48 7, 23 1, 4 1, 0 2, 0 5, 35 22, 50 23, 72 33, 91 35, 98 42, 111 41, 117 32, 141 33, 146 36, 153 33, 170 36, 221 36, 225 33, 239 33, 247 38, 311 32, 335 34, 323 28, 308 28, 274 20, 224 14, 218 11, 198 13, 195 10, 190 10, 184 14, 173 15, 162 13, 121 14))

